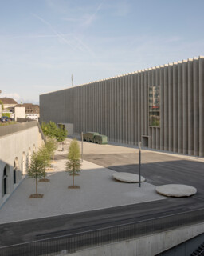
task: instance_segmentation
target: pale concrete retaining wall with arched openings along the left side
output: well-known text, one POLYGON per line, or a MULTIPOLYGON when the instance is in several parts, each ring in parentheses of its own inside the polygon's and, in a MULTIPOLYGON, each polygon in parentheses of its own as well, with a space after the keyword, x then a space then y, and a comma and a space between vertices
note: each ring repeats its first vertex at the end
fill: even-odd
MULTIPOLYGON (((0 136, 0 206, 19 185, 19 182, 22 181, 22 178, 26 175, 26 168, 29 164, 33 151, 37 150, 38 145, 40 146, 42 143, 37 122, 28 122, 26 124, 28 127, 31 127, 26 129, 24 123, 13 125, 11 133, 0 136), (24 130, 18 130, 21 125, 24 130), (17 132, 14 132, 14 126, 17 126, 17 132), (6 194, 3 195, 2 179, 5 168, 7 176, 6 194), (15 182, 14 170, 16 170, 15 182)), ((0 128, 5 130, 6 127, 0 128)))

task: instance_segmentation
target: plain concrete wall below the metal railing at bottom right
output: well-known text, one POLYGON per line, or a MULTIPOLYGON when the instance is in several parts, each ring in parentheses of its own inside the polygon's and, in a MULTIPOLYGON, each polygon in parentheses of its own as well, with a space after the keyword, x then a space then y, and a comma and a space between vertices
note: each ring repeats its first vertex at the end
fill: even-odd
MULTIPOLYGON (((159 234, 116 242, 105 246, 80 250, 69 256, 153 256, 174 246, 179 245, 190 238, 194 238, 204 231, 204 223, 194 226, 186 226, 176 230, 168 230, 159 234)), ((61 255, 61 254, 58 254, 61 255)), ((186 252, 190 255, 190 252, 186 252)), ((182 255, 181 255, 182 256, 182 255)))

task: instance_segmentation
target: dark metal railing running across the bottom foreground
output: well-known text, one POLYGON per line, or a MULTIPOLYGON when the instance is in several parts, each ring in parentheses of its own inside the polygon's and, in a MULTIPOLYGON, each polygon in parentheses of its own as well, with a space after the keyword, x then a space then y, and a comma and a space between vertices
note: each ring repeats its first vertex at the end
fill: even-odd
MULTIPOLYGON (((201 222, 204 222, 204 209, 0 247, 0 255, 59 255, 62 250, 73 253, 92 246, 102 246, 201 222)), ((60 234, 60 231, 57 233, 60 234)))

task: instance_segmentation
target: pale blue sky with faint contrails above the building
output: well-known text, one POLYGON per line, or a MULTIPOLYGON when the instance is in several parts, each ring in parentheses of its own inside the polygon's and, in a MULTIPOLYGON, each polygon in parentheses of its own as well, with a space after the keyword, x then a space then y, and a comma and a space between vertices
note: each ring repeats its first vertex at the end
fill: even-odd
POLYGON ((203 0, 0 0, 0 98, 204 55, 203 0))

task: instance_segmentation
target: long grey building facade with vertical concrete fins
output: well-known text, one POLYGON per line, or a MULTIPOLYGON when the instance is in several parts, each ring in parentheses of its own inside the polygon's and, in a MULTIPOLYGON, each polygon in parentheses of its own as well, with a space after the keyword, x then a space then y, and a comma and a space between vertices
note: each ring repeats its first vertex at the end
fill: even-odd
POLYGON ((204 57, 40 96, 41 121, 73 123, 112 142, 204 156, 204 57), (160 86, 160 126, 149 126, 149 86, 160 86))

